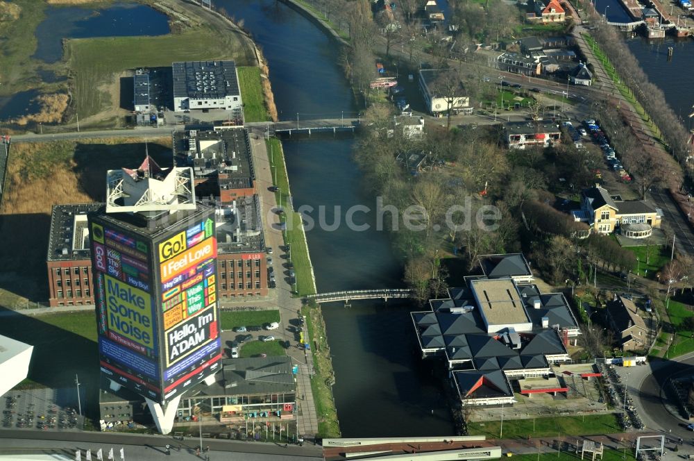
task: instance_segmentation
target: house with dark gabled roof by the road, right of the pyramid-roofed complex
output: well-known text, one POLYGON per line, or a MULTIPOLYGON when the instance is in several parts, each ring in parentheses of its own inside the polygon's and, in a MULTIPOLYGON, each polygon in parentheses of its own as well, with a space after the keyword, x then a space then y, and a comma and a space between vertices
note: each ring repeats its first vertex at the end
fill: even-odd
POLYGON ((648 328, 638 315, 634 301, 616 296, 607 303, 607 319, 623 351, 648 349, 648 328))

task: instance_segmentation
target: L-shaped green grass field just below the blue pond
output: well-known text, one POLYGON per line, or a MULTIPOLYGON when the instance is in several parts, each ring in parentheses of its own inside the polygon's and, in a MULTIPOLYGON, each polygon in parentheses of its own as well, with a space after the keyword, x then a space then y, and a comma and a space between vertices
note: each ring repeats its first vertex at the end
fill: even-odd
POLYGON ((136 67, 170 66, 174 61, 236 60, 255 64, 255 54, 239 33, 206 28, 160 37, 105 37, 67 40, 66 59, 74 75, 74 97, 82 118, 119 106, 119 74, 136 67))

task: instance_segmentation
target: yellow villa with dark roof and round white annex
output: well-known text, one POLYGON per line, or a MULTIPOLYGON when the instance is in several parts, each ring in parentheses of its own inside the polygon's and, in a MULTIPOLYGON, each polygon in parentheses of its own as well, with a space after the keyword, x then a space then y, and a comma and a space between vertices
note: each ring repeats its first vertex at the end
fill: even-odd
POLYGON ((596 184, 581 192, 581 209, 571 214, 575 221, 583 221, 601 234, 621 230, 627 237, 645 238, 652 228, 661 226, 663 212, 645 200, 623 201, 620 196, 610 196, 604 187, 596 184), (631 226, 634 224, 645 226, 643 229, 631 226))

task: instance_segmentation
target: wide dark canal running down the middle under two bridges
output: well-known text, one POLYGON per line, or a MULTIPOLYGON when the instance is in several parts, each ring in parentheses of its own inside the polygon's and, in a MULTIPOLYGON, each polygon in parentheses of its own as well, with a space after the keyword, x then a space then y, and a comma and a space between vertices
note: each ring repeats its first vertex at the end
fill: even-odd
MULTIPOLYGON (((276 0, 217 0, 217 7, 251 31, 270 68, 280 119, 337 116, 353 112, 353 99, 337 65, 339 49, 312 22, 276 0)), ((283 142, 294 206, 312 206, 318 221, 344 221, 348 207, 375 209, 352 160, 352 138, 283 142), (335 207, 341 207, 336 210, 335 207)), ((364 217, 364 219, 359 219, 364 217)), ((357 224, 307 232, 319 292, 401 287, 402 268, 388 235, 374 230, 375 213, 357 224)), ((333 356, 333 391, 346 437, 452 435, 454 427, 429 364, 414 354, 416 341, 407 303, 382 301, 325 305, 323 315, 333 356)))

